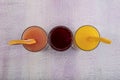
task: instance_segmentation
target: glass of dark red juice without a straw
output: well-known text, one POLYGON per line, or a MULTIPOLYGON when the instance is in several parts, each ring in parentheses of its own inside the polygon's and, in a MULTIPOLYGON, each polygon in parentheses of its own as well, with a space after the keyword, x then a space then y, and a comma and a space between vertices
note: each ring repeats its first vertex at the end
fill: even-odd
POLYGON ((57 51, 65 51, 72 45, 73 34, 66 26, 56 26, 49 33, 49 44, 57 51))

